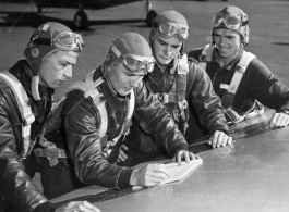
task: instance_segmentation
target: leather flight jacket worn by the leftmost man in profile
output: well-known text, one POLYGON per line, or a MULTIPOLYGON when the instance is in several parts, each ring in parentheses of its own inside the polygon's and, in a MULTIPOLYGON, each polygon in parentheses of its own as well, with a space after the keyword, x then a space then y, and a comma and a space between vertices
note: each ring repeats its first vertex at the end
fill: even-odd
MULTIPOLYGON (((53 90, 39 85, 40 101, 32 97, 32 70, 26 60, 14 64, 9 72, 23 85, 29 99, 35 121, 31 128, 32 148, 37 146, 49 116, 53 90)), ((0 80, 0 191, 7 202, 21 211, 55 211, 40 190, 32 183, 39 166, 33 152, 22 161, 22 119, 14 93, 7 83, 0 80)))

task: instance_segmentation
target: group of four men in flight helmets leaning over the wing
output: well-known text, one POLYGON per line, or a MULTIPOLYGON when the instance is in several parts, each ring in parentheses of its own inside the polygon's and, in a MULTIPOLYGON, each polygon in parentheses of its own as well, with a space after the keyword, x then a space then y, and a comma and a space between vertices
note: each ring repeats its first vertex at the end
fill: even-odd
POLYGON ((244 51, 248 23, 242 10, 225 7, 214 16, 212 43, 188 59, 185 17, 160 13, 149 42, 136 33, 117 37, 105 62, 74 83, 52 114, 53 89, 71 77, 84 43, 62 24, 39 26, 26 60, 0 75, 5 211, 98 211, 86 201, 56 208, 48 199, 87 185, 159 184, 168 174, 164 165, 131 166, 164 153, 178 163, 196 159, 183 136, 194 132, 189 114, 197 114, 214 148, 232 141, 227 120, 261 114, 262 104, 276 110, 270 128, 287 126, 289 89, 244 51), (44 192, 32 182, 35 172, 41 173, 44 192))

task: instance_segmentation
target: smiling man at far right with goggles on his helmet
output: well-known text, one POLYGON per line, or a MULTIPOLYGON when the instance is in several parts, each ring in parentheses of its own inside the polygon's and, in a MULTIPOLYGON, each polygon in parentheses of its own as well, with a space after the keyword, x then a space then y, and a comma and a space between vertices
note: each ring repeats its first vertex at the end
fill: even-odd
POLYGON ((249 43, 249 17, 239 8, 227 5, 213 18, 213 41, 189 53, 204 66, 221 98, 231 124, 275 109, 269 127, 289 124, 289 89, 244 47, 249 43), (240 89, 238 89, 238 87, 240 89), (260 103, 261 102, 261 103, 260 103))

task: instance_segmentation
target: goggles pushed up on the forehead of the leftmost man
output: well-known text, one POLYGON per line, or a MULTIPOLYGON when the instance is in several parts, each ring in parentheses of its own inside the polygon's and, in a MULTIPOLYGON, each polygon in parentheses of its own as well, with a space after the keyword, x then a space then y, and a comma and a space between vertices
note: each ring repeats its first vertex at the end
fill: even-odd
POLYGON ((77 50, 81 51, 82 47, 84 47, 84 42, 82 36, 80 34, 64 32, 58 34, 55 39, 53 43, 62 50, 77 50))

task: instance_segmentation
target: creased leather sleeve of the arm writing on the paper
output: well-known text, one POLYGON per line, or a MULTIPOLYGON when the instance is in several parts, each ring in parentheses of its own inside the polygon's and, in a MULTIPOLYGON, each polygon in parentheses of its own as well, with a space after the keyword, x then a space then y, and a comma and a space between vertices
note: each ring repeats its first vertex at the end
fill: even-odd
MULTIPOLYGON (((68 96, 70 102, 74 96, 68 96)), ((92 99, 70 109, 64 103, 64 130, 77 177, 85 184, 109 188, 130 187, 132 169, 110 164, 101 154, 99 112, 92 99)))

